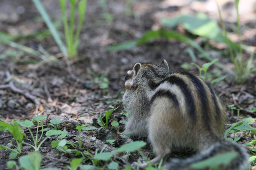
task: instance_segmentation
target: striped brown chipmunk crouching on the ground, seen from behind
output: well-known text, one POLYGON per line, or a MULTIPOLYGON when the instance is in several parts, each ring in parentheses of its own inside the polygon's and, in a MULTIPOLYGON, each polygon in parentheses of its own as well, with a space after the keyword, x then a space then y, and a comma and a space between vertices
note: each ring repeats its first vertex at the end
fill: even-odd
POLYGON ((225 106, 201 78, 189 72, 171 74, 163 60, 159 65, 136 63, 125 79, 122 101, 130 117, 123 133, 148 136, 156 155, 151 163, 166 160, 173 150, 192 149, 197 154, 171 159, 166 169, 195 170, 190 167, 194 162, 234 151, 236 158, 221 170, 247 169, 247 150, 223 138, 225 106))

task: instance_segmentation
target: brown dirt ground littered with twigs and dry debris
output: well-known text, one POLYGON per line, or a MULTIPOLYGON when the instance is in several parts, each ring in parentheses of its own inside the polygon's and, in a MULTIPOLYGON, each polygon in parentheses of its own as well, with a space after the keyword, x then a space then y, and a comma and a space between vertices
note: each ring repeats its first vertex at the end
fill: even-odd
MULTIPOLYGON (((75 126, 90 124, 100 127, 96 119, 107 110, 118 106, 110 117, 125 120, 121 115, 123 107, 120 102, 121 92, 124 91, 124 77, 126 71, 132 68, 137 62, 151 62, 158 64, 163 59, 169 63, 170 71, 182 70, 184 63, 192 63, 188 49, 192 49, 183 42, 174 40, 159 39, 147 42, 131 50, 106 51, 111 44, 136 40, 146 31, 161 27, 160 18, 177 17, 180 14, 195 14, 205 12, 218 23, 219 15, 214 0, 108 0, 107 7, 112 20, 107 21, 103 9, 99 5, 100 0, 88 0, 84 26, 80 35, 79 56, 66 61, 59 51, 53 37, 47 31, 37 8, 31 0, 1 0, 0 2, 0 36, 2 33, 9 34, 19 44, 38 51, 47 51, 55 56, 57 61, 40 59, 24 51, 19 51, 7 45, 0 44, 0 119, 5 122, 24 120, 36 115, 47 115, 47 122, 51 119, 62 119, 61 127, 68 131, 68 140, 77 142, 78 131, 75 126), (67 64, 67 62, 69 64, 67 64), (69 67, 70 66, 70 67, 69 67), (108 84, 108 88, 102 89, 101 85, 108 84)), ((61 25, 61 10, 59 1, 42 0, 44 7, 52 17, 55 25, 63 35, 61 25)), ((219 5, 223 11, 223 19, 231 30, 236 22, 236 13, 233 1, 220 0, 219 5)), ((241 0, 240 22, 242 41, 252 48, 256 48, 256 1, 241 0), (248 5, 250 4, 250 5, 248 5)), ((184 33, 197 41, 198 37, 187 33, 182 27, 175 31, 184 33)), ((238 36, 231 37, 238 41, 238 36)), ((199 40, 200 42, 200 40, 199 40)), ((200 44, 213 58, 230 70, 234 68, 223 51, 222 45, 200 44)), ((194 50, 195 55, 198 52, 194 50)), ((245 53, 245 59, 249 54, 245 53)), ((208 62, 205 59, 195 61, 199 66, 208 62)), ((256 58, 254 59, 256 63, 256 58)), ((254 65, 255 67, 255 65, 254 65)), ((198 69, 191 65, 189 68, 195 74, 198 69)), ((235 104, 237 108, 243 108, 243 117, 255 117, 255 113, 248 110, 256 108, 256 74, 250 74, 246 83, 236 85, 227 72, 212 66, 209 74, 216 78, 228 75, 223 81, 214 84, 215 90, 219 93, 227 105, 235 104)), ((210 81, 211 79, 209 79, 210 81)), ((231 110, 227 110, 230 116, 231 110)), ((237 114, 229 119, 228 124, 237 119, 237 114)), ((253 124, 254 127, 256 127, 253 124)), ((123 130, 123 125, 120 127, 123 130)), ((94 141, 94 144, 87 146, 88 151, 95 152, 96 148, 102 148, 107 144, 108 138, 114 137, 114 147, 119 147, 124 141, 119 136, 110 135, 115 131, 110 127, 107 130, 94 130, 82 132, 83 144, 94 141), (87 137, 86 137, 87 136, 87 137), (90 136, 88 138, 88 136, 90 136)), ((250 140, 254 140, 252 136, 250 140)), ((0 131, 0 144, 11 145, 12 137, 9 133, 0 131)), ((40 152, 43 155, 42 168, 57 167, 64 169, 69 165, 74 154, 64 154, 51 148, 51 140, 42 145, 40 152)), ((247 142, 247 141, 242 141, 247 142)), ((107 149, 111 150, 110 144, 107 149)), ((32 152, 31 147, 25 147, 23 154, 32 152)), ((150 152, 147 147, 146 153, 150 152)), ((6 169, 6 162, 9 160, 9 151, 0 150, 0 169, 6 169)), ((19 155, 21 156, 21 155, 19 155)), ((137 159, 115 158, 120 165, 128 164, 137 159)), ((17 161, 15 159, 15 161, 17 161)))

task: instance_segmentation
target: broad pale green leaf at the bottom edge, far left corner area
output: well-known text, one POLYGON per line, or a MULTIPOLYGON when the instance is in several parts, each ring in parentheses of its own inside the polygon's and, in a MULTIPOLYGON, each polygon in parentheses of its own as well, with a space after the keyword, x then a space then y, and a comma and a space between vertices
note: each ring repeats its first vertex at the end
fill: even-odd
POLYGON ((28 155, 21 156, 18 159, 20 166, 27 170, 39 170, 42 161, 42 156, 38 152, 32 152, 28 155))

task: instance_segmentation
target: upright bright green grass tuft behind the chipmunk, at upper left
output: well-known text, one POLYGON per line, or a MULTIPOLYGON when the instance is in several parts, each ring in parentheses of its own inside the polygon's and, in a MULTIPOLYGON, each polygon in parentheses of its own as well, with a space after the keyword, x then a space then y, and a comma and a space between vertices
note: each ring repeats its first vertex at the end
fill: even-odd
POLYGON ((65 31, 65 39, 68 49, 68 54, 70 56, 75 56, 77 54, 77 47, 80 43, 79 35, 81 32, 85 11, 86 11, 86 3, 87 0, 69 0, 70 2, 70 25, 68 24, 68 19, 66 17, 66 0, 59 0, 60 1, 60 7, 62 10, 62 18, 64 23, 64 31, 65 31), (77 4, 78 3, 78 4, 77 4), (75 26, 75 7, 77 5, 77 11, 79 14, 78 19, 78 26, 77 30, 75 32, 74 26, 75 26))

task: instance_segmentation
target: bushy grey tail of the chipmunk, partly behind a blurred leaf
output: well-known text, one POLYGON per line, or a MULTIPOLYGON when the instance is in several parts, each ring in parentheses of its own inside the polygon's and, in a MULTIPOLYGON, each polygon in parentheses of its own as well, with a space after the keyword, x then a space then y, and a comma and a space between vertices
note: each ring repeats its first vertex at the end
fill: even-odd
MULTIPOLYGON (((213 170, 213 168, 210 168, 207 165, 202 169, 193 168, 193 165, 200 161, 206 162, 209 158, 228 152, 230 154, 233 153, 233 156, 231 156, 233 159, 231 159, 231 161, 226 165, 220 165, 215 170, 249 170, 249 155, 247 150, 234 142, 226 140, 221 140, 192 157, 188 157, 186 159, 171 159, 170 162, 165 164, 165 170, 213 170), (236 156, 234 157, 234 155, 236 156)), ((230 159, 231 157, 227 157, 225 159, 230 159)))

